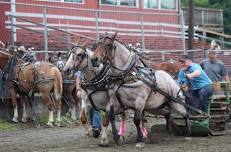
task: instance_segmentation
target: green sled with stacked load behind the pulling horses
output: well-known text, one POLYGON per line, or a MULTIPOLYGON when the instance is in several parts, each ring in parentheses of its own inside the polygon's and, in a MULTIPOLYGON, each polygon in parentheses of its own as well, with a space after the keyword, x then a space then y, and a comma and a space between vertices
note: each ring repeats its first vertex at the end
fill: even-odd
MULTIPOLYGON (((192 136, 214 136, 230 132, 230 84, 219 82, 218 88, 210 98, 207 114, 190 116, 192 136)), ((186 131, 184 119, 179 115, 172 116, 171 126, 175 134, 183 135, 186 131)))

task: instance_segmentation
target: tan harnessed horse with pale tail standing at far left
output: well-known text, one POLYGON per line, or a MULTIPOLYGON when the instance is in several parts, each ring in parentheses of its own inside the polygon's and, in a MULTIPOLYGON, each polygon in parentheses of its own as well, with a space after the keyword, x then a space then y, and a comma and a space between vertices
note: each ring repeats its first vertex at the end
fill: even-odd
MULTIPOLYGON (((27 121, 26 105, 24 100, 31 100, 35 92, 42 95, 44 103, 48 107, 49 120, 47 125, 52 126, 53 105, 57 107, 57 125, 60 125, 61 96, 62 96, 62 75, 58 68, 47 62, 25 63, 16 55, 0 52, 0 68, 3 79, 7 81, 12 97, 14 117, 12 121, 18 122, 17 93, 23 99, 22 122, 27 121), (51 93, 54 92, 56 104, 52 102, 51 93)), ((33 103, 32 101, 30 103, 33 103)), ((33 107, 33 105, 32 105, 33 107)), ((33 110, 33 109, 32 109, 33 110)), ((35 114, 35 113, 34 113, 35 114)))

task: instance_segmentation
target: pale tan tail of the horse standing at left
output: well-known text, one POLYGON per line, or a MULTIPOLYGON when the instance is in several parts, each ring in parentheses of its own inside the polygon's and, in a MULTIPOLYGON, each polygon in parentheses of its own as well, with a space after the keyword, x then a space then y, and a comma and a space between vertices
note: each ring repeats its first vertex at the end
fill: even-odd
POLYGON ((62 74, 57 67, 53 67, 54 72, 54 94, 55 99, 60 100, 63 93, 63 79, 62 74))

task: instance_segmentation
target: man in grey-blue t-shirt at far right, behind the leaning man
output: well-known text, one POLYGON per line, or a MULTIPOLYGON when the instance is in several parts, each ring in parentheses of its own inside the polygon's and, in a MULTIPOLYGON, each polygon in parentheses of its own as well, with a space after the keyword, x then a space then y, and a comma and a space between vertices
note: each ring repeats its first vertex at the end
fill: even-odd
POLYGON ((215 50, 209 51, 208 59, 203 60, 200 65, 213 82, 229 81, 228 72, 225 69, 224 63, 217 59, 215 50))

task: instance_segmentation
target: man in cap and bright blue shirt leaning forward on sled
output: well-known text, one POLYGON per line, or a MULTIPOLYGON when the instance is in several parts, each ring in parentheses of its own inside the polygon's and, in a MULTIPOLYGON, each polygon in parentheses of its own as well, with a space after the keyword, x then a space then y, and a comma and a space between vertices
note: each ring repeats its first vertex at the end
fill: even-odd
POLYGON ((213 94, 212 81, 198 64, 192 62, 188 54, 183 54, 179 62, 183 68, 179 72, 178 83, 188 84, 192 94, 199 99, 200 103, 196 108, 207 112, 208 100, 213 94))

